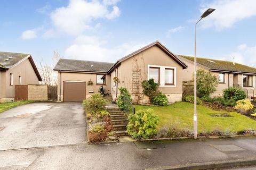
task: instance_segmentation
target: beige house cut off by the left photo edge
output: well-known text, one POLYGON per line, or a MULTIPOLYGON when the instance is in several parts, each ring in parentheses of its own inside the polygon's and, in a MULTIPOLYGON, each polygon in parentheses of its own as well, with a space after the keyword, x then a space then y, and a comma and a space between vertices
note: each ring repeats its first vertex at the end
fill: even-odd
POLYGON ((14 101, 15 85, 42 81, 30 54, 0 52, 0 103, 14 101))

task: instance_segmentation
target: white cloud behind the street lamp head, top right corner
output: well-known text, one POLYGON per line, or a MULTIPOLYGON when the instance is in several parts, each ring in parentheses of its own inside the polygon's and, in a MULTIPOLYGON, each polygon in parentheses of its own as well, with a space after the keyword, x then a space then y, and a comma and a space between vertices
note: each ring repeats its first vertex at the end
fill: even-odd
POLYGON ((216 10, 203 20, 203 28, 215 27, 217 30, 232 27, 236 22, 256 16, 255 0, 215 0, 203 4, 200 11, 207 8, 216 10))

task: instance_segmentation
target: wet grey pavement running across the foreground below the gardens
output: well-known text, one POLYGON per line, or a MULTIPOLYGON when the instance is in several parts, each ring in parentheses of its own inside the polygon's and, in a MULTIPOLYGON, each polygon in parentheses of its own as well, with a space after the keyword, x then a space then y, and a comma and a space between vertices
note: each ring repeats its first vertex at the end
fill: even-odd
POLYGON ((256 138, 123 142, 0 151, 0 169, 145 169, 256 157, 256 138))

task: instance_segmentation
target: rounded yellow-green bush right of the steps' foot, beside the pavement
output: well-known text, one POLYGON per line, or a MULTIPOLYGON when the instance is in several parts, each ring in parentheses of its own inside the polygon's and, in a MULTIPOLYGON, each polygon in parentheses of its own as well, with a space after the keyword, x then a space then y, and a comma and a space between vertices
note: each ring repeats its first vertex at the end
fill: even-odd
POLYGON ((130 114, 128 119, 127 132, 135 139, 147 139, 157 132, 159 118, 153 113, 153 109, 139 110, 130 114))

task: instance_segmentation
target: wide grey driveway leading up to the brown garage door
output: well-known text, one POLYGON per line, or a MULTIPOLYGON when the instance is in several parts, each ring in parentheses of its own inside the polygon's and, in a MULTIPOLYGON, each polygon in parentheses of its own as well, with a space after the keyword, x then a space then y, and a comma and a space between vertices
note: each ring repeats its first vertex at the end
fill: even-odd
POLYGON ((81 103, 32 103, 0 114, 0 150, 87 142, 81 103))

